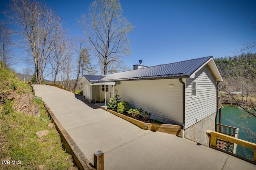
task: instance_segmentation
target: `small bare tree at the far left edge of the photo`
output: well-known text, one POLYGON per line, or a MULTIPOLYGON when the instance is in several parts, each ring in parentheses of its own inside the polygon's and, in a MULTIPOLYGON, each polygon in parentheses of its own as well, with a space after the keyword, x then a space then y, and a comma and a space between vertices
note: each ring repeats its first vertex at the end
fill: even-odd
POLYGON ((3 21, 0 21, 0 61, 2 61, 5 66, 9 66, 13 63, 10 56, 10 52, 12 51, 11 36, 12 31, 10 27, 3 21))

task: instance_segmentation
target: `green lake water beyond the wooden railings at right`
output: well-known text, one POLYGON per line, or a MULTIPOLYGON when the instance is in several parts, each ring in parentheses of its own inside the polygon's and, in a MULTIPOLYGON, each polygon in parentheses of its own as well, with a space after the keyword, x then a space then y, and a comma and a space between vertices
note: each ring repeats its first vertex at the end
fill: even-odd
MULTIPOLYGON (((234 106, 222 107, 221 115, 222 125, 228 125, 239 128, 239 139, 256 143, 256 137, 249 136, 248 133, 246 133, 246 131, 239 127, 241 125, 246 125, 246 127, 249 127, 249 129, 251 129, 252 132, 256 133, 256 117, 247 116, 246 118, 243 118, 243 116, 248 115, 248 113, 244 109, 234 106)), ((241 147, 240 145, 237 145, 237 155, 247 157, 250 160, 253 160, 253 153, 254 150, 247 149, 241 147), (246 156, 246 154, 248 155, 246 156)))

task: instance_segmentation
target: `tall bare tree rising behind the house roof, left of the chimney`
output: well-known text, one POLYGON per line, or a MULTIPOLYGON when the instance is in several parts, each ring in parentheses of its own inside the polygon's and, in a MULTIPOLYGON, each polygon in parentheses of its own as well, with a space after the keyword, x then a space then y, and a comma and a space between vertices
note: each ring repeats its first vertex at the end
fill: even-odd
POLYGON ((130 54, 128 33, 134 26, 122 16, 119 0, 96 0, 89 8, 88 18, 82 16, 81 26, 90 43, 90 49, 107 74, 112 63, 121 62, 130 54))

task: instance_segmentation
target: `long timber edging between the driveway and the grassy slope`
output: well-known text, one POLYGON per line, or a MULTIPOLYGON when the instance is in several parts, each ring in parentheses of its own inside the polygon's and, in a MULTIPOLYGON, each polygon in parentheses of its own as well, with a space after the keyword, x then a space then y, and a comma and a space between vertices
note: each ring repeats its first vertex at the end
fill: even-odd
POLYGON ((70 137, 70 135, 67 133, 67 131, 63 128, 63 126, 60 124, 56 116, 52 113, 50 108, 47 106, 45 102, 44 106, 48 112, 48 115, 52 119, 52 122, 56 125, 56 129, 58 130, 60 137, 62 139, 62 143, 64 147, 66 148, 67 152, 71 153, 74 161, 78 165, 78 167, 81 170, 96 170, 92 163, 86 158, 82 150, 76 145, 74 140, 70 137))

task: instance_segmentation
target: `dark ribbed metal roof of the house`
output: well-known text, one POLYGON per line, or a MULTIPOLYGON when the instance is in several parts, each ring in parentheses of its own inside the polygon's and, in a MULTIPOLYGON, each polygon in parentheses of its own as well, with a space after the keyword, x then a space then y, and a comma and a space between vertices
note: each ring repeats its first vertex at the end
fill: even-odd
POLYGON ((98 80, 98 82, 112 82, 124 80, 143 80, 143 79, 159 79, 159 78, 189 78, 196 70, 210 61, 213 57, 203 57, 199 59, 192 59, 170 64, 161 64, 147 68, 140 68, 136 70, 117 72, 113 74, 106 74, 104 76, 86 76, 90 80, 98 80))

